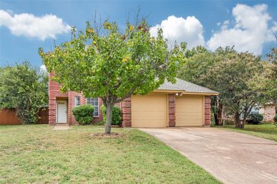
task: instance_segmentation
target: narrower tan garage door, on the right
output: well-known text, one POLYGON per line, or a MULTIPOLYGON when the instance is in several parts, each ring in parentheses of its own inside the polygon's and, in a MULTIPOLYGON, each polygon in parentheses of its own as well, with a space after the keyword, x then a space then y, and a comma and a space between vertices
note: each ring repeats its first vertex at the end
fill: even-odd
POLYGON ((177 96, 176 126, 202 126, 204 121, 203 100, 202 96, 177 96))

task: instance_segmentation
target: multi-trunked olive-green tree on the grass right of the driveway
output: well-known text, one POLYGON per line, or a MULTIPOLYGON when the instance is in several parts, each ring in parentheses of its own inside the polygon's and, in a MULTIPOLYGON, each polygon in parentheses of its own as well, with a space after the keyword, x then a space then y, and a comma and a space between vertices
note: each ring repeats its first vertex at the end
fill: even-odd
POLYGON ((220 91, 220 98, 227 114, 233 114, 235 125, 244 128, 251 109, 261 102, 263 93, 253 88, 253 80, 263 67, 260 56, 251 53, 237 53, 229 48, 216 51, 219 62, 207 76, 213 77, 211 86, 220 91), (243 115, 242 122, 240 116, 243 115))

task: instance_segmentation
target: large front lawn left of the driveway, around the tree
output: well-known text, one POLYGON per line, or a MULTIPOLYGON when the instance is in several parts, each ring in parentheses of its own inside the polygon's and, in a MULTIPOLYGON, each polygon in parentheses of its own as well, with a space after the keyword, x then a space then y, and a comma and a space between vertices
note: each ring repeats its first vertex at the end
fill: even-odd
POLYGON ((0 126, 0 183, 219 183, 177 151, 137 129, 102 126, 52 131, 48 125, 0 126))

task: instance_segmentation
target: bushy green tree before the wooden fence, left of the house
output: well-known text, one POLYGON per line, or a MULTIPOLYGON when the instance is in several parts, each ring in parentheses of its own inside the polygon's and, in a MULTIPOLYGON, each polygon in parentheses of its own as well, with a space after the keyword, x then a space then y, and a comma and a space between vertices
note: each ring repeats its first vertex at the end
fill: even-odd
POLYGON ((0 69, 0 108, 15 108, 24 124, 34 123, 48 104, 48 75, 29 62, 0 69))

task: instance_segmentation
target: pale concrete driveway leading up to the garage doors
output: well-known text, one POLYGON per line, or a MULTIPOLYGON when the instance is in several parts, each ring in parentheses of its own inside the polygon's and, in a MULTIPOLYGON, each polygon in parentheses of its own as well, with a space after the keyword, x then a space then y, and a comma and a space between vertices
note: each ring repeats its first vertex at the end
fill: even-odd
POLYGON ((277 142, 208 127, 141 130, 223 183, 277 183, 277 142))

